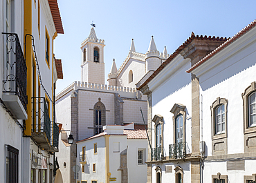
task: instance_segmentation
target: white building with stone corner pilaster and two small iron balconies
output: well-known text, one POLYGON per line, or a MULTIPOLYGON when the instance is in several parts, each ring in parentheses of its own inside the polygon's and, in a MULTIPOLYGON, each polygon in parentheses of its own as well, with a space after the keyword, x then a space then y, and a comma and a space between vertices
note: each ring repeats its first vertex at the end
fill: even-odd
POLYGON ((147 182, 200 182, 199 85, 185 71, 224 41, 192 32, 161 67, 136 85, 148 96, 147 182))

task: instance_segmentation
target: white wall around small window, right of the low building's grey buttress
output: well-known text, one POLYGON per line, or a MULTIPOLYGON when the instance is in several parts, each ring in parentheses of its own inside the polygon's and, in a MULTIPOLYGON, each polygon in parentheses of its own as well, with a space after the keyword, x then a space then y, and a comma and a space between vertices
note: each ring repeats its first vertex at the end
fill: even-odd
POLYGON ((147 182, 147 139, 127 139, 128 182, 147 182), (138 164, 138 149, 143 150, 143 164, 138 164))

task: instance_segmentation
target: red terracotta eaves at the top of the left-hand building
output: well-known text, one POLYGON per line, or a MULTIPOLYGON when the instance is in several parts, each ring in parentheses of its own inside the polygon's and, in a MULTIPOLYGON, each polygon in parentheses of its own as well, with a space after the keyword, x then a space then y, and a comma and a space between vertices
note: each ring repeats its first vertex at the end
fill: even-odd
POLYGON ((55 28, 58 34, 64 34, 63 26, 62 26, 62 18, 60 17, 60 10, 57 3, 57 0, 48 0, 51 13, 53 16, 53 21, 55 24, 55 28))

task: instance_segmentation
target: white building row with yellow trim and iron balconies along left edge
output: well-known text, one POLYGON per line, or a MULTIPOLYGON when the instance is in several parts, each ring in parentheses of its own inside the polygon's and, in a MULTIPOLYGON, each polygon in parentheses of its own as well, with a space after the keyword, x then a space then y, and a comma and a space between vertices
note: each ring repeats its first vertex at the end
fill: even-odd
POLYGON ((53 40, 63 33, 57 1, 7 0, 0 8, 1 181, 53 182, 58 143, 53 97, 62 75, 53 40))

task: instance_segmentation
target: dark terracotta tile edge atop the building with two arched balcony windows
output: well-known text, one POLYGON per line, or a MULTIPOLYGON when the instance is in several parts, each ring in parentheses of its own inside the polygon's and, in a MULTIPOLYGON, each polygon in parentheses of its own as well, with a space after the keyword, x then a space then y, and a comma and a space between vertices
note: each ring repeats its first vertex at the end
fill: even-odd
POLYGON ((167 66, 167 64, 169 64, 177 55, 179 55, 179 53, 181 52, 181 50, 183 50, 186 46, 188 46, 188 44, 190 44, 194 39, 198 39, 198 40, 217 40, 217 41, 225 41, 227 40, 227 38, 219 38, 219 37, 207 37, 206 35, 203 37, 203 35, 199 36, 199 35, 194 35, 194 32, 192 32, 191 36, 181 45, 179 46, 179 48, 177 48, 172 55, 170 55, 170 57, 163 62, 163 64, 161 64, 161 66, 159 66, 154 73, 149 76, 149 78, 147 78, 147 80, 137 89, 140 90, 141 88, 143 88, 143 86, 146 86, 149 81, 151 81, 152 79, 154 79, 154 77, 156 77, 156 75, 158 75, 158 73, 161 72, 161 70, 163 70, 163 68, 165 68, 165 66, 167 66))

